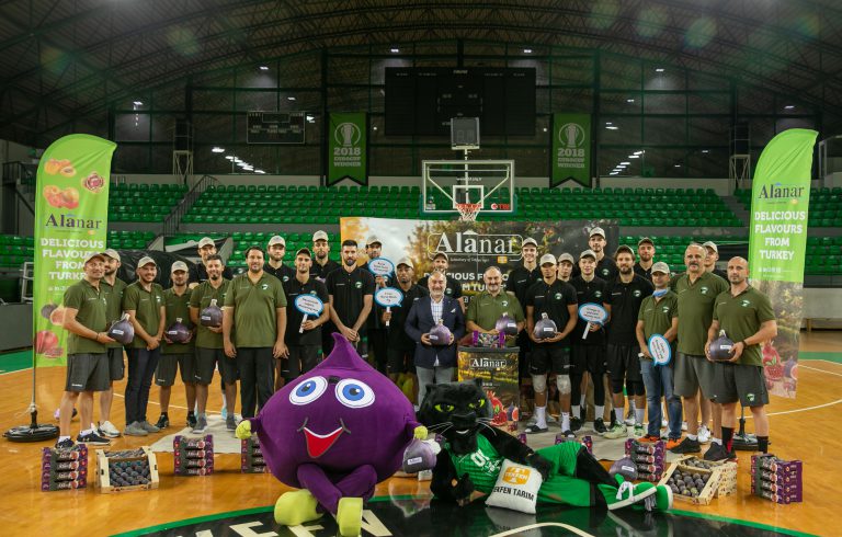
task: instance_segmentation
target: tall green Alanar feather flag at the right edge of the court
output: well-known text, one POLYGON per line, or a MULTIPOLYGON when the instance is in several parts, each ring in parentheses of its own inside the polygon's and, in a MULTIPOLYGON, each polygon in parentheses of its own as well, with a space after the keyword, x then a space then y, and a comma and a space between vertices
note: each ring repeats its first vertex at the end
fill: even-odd
POLYGON ((763 149, 751 188, 751 284, 772 301, 777 338, 763 345, 770 393, 795 397, 798 334, 804 311, 804 263, 812 148, 818 133, 800 128, 775 136, 763 149))

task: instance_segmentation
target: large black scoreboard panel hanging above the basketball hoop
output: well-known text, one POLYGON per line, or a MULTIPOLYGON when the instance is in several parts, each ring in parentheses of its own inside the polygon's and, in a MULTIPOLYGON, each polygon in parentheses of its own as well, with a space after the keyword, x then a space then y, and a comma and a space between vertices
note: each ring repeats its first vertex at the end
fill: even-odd
POLYGON ((386 134, 448 136, 451 117, 479 117, 486 136, 535 134, 535 69, 386 68, 386 134))

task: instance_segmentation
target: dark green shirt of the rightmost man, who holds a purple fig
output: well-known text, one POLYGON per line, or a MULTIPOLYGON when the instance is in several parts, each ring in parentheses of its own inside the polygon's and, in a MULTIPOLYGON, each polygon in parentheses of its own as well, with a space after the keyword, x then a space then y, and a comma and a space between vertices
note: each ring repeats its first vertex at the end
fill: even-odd
MULTIPOLYGON (((719 329, 735 343, 751 338, 760 325, 775 319, 775 311, 769 297, 752 286, 739 295, 731 296, 731 292, 719 294, 716 297, 714 319, 719 321, 719 329)), ((737 361, 740 365, 762 366, 763 357, 760 345, 749 345, 737 361)))

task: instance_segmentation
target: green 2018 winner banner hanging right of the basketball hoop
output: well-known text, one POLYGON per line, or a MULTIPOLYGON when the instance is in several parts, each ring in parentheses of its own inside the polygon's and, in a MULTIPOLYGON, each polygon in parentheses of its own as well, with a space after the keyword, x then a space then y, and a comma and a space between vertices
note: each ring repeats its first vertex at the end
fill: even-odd
POLYGON ((572 179, 591 185, 590 114, 553 114, 553 173, 549 186, 572 179))

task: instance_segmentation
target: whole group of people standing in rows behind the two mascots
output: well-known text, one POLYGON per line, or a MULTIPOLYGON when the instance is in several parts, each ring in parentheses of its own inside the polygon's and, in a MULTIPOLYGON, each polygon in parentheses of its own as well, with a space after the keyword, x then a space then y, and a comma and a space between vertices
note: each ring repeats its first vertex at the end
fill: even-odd
MULTIPOLYGON (((135 330, 125 347, 126 435, 143 436, 169 426, 178 372, 190 409, 187 426, 204 432, 215 369, 221 377, 226 426, 234 431, 238 382, 241 415, 252 418, 274 391, 330 353, 335 332, 364 359, 371 351, 373 365, 392 380, 409 375, 416 404, 423 400, 428 385, 453 379, 459 340, 480 344, 497 340, 519 346, 521 377, 532 381, 535 411, 528 433, 548 431, 548 379, 555 378, 559 425, 568 437, 583 426, 584 393, 592 382, 593 430, 607 438, 632 433, 660 439, 664 401, 668 447, 676 453, 699 452, 704 432, 713 431, 705 456, 721 460, 733 456, 730 441, 739 401, 751 408, 759 448, 765 450, 767 393, 759 344, 773 338, 776 327, 769 299, 748 285, 746 260, 730 260, 724 279, 714 272, 716 244, 693 243, 685 252, 687 272, 672 277, 665 263, 655 262, 649 239, 639 242, 637 259, 625 245, 608 256, 606 245, 604 230, 593 228, 589 249, 578 259, 570 253, 558 258, 545 253, 538 259, 537 242, 527 238, 522 265, 508 275, 497 266, 488 267, 482 276, 485 289, 467 307, 459 282, 447 275, 445 252, 435 253, 433 271, 420 281, 409 258, 400 259, 392 274, 375 276, 360 266, 353 240, 342 242, 340 263, 331 261, 325 231, 314 233, 312 249, 295 252, 293 266, 283 262, 286 242, 281 236, 272 237, 265 250, 250 247, 248 270, 236 277, 217 254, 213 239, 204 238, 198 243, 201 263, 192 267, 173 263, 169 289, 155 283, 158 265, 149 256, 138 262, 137 279, 127 285, 116 277, 117 252, 93 253, 84 262, 84 277, 65 296, 65 328, 70 335, 57 445, 72 445, 70 418, 77 402, 82 427, 90 424, 78 442, 107 445, 109 438, 120 436, 110 411, 113 382, 124 376, 123 346, 109 338, 107 328, 126 313, 135 330), (399 306, 375 304, 376 289, 385 286, 402 295, 399 306), (295 306, 301 295, 318 298, 321 311, 304 313, 295 306), (579 317, 579 305, 588 302, 604 307, 603 322, 579 317), (212 304, 223 308, 219 327, 200 321, 212 304), (501 317, 516 324, 516 335, 503 340, 497 330, 501 317), (177 320, 190 332, 186 342, 177 343, 167 335, 177 320), (536 327, 547 330, 548 321, 555 331, 547 336, 536 327), (435 330, 437 325, 446 332, 435 330), (729 363, 713 363, 706 356, 719 330, 738 342, 729 363), (440 333, 450 333, 450 341, 431 340, 431 334, 440 333), (669 365, 653 363, 647 346, 653 334, 663 335, 676 351, 669 365), (160 387, 161 405, 155 424, 147 420, 152 380, 160 387), (94 391, 101 392, 99 425, 92 420, 94 391), (683 439, 682 412, 687 429, 683 439), (713 429, 708 429, 710 418, 713 429)), ((382 241, 368 237, 367 258, 380 258, 382 250, 382 241)))

